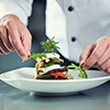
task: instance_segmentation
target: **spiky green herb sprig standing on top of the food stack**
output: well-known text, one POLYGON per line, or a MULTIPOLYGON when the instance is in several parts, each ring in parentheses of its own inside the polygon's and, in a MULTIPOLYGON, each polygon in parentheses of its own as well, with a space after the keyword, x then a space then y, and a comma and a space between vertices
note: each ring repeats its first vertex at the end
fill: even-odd
POLYGON ((58 46, 56 46, 56 44, 58 44, 59 42, 55 42, 54 41, 55 36, 51 40, 41 42, 42 47, 44 48, 44 52, 48 52, 48 53, 55 53, 54 50, 58 48, 61 50, 58 46))

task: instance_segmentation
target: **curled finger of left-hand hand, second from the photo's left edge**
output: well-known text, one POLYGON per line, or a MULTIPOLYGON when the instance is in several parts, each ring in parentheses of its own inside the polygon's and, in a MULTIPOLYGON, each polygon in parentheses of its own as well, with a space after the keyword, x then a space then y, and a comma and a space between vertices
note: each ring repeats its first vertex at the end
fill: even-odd
POLYGON ((13 47, 9 42, 8 32, 6 26, 0 26, 0 36, 8 51, 12 52, 13 47))

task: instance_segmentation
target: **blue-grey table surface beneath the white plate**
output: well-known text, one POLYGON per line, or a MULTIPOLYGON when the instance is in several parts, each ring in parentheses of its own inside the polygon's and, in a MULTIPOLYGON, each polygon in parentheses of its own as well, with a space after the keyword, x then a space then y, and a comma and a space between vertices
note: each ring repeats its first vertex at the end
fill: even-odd
POLYGON ((110 81, 69 96, 38 96, 0 80, 0 110, 110 110, 110 81))

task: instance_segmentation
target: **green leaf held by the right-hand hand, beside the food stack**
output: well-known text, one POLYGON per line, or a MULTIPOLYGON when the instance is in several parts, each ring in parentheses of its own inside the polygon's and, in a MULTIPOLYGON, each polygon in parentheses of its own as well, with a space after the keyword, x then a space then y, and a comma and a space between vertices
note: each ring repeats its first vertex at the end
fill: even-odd
POLYGON ((81 66, 76 66, 75 64, 72 63, 72 65, 67 66, 67 68, 73 68, 74 70, 80 70, 78 77, 88 78, 86 72, 82 70, 81 66))

